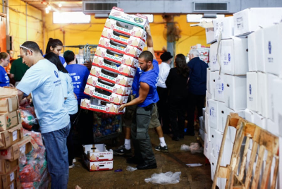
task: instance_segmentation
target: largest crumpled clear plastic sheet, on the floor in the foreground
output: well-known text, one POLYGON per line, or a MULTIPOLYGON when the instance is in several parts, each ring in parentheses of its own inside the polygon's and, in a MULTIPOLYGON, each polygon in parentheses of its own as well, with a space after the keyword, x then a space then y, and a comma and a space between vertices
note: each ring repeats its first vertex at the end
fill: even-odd
POLYGON ((154 173, 151 178, 145 178, 145 182, 151 182, 153 184, 176 184, 180 181, 181 172, 166 172, 166 173, 154 173))

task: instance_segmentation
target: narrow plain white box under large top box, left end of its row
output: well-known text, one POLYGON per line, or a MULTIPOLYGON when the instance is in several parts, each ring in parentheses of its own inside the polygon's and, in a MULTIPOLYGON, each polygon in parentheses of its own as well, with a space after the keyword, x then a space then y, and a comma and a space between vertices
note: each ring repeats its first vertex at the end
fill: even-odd
POLYGON ((257 71, 255 32, 248 35, 248 71, 257 71))

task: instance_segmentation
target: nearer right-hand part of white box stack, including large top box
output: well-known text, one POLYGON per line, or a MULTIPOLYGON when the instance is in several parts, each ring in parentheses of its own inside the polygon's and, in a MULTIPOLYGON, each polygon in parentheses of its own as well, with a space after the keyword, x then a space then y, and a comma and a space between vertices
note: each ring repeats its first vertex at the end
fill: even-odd
MULTIPOLYGON (((248 35, 249 69, 246 86, 246 119, 279 136, 281 149, 282 124, 279 121, 281 114, 279 104, 282 105, 280 99, 282 80, 279 77, 282 78, 280 63, 282 60, 280 48, 282 43, 282 8, 249 8, 235 13, 234 18, 235 25, 238 26, 234 33, 248 35)), ((250 154, 251 148, 252 145, 250 145, 248 154, 250 154)), ((262 169, 264 169, 266 157, 265 154, 262 169)), ((273 173, 274 164, 272 164, 271 170, 273 173)), ((281 178, 282 164, 280 163, 278 185, 276 186, 278 188, 282 188, 281 178)))

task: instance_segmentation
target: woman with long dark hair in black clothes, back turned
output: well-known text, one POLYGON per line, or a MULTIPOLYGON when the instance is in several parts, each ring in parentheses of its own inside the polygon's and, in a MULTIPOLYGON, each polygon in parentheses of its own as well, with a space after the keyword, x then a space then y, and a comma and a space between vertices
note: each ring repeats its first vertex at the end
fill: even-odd
POLYGON ((187 81, 189 77, 189 67, 183 54, 175 56, 175 68, 170 69, 170 73, 165 81, 168 88, 168 103, 170 108, 170 124, 172 129, 172 140, 178 141, 184 138, 185 123, 185 98, 187 97, 187 81))

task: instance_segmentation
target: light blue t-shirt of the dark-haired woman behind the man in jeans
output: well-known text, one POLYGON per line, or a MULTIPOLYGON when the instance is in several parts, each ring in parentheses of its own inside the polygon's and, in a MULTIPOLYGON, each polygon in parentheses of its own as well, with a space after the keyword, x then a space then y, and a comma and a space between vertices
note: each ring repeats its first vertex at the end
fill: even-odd
POLYGON ((73 84, 71 77, 68 73, 64 73, 62 71, 60 73, 60 78, 62 81, 62 87, 63 87, 63 95, 65 100, 65 106, 67 110, 69 111, 69 115, 73 115, 77 112, 77 100, 73 92, 73 84))

